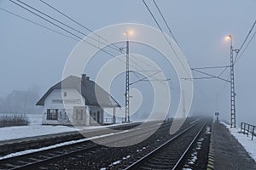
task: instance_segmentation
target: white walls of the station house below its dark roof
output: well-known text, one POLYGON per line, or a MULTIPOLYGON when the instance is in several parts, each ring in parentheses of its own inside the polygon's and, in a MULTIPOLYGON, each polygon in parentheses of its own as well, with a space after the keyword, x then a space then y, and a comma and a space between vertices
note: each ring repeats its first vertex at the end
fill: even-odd
POLYGON ((99 106, 85 105, 76 88, 54 89, 44 99, 43 124, 93 125, 102 124, 104 111, 99 106))

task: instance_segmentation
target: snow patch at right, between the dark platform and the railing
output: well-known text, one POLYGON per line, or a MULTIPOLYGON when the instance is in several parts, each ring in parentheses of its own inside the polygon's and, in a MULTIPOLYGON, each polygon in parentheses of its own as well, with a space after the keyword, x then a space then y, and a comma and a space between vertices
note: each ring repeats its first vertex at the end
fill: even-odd
POLYGON ((252 140, 252 136, 247 137, 246 134, 239 133, 239 128, 230 128, 230 125, 222 122, 229 130, 230 133, 238 140, 238 142, 247 150, 248 154, 256 161, 256 137, 252 140))

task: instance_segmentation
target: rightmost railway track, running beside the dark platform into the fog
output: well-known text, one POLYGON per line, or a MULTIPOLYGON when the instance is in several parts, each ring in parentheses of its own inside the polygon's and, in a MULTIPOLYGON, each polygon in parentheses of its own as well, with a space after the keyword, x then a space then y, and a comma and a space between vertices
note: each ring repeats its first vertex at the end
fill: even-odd
POLYGON ((180 169, 179 165, 185 158, 188 151, 195 143, 201 131, 205 127, 203 125, 193 125, 178 133, 172 139, 161 144, 158 148, 143 156, 139 160, 132 163, 125 170, 131 169, 180 169), (179 168, 178 168, 179 167, 179 168))

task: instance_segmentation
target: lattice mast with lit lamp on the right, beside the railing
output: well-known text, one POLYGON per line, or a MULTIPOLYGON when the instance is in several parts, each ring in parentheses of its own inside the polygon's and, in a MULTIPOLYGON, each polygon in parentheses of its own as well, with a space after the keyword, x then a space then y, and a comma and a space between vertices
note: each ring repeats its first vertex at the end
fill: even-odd
POLYGON ((232 36, 227 35, 226 40, 230 40, 230 124, 231 127, 236 127, 236 92, 235 92, 235 69, 234 69, 234 51, 236 56, 239 49, 233 48, 232 36))

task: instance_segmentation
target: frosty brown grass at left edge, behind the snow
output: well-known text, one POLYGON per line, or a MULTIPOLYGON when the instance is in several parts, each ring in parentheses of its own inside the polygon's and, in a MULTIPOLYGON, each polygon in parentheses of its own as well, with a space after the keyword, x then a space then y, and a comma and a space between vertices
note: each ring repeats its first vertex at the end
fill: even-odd
POLYGON ((14 127, 28 125, 26 114, 3 114, 0 115, 0 127, 14 127))

